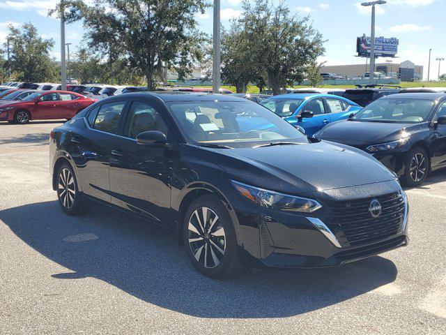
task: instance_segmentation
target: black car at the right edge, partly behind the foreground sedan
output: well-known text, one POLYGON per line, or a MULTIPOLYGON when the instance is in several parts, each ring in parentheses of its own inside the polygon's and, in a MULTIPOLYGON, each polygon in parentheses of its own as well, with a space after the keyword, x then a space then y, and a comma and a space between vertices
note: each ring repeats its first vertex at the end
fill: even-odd
POLYGON ((432 170, 446 166, 446 95, 380 98, 348 121, 325 126, 314 137, 362 149, 407 186, 420 186, 432 170))

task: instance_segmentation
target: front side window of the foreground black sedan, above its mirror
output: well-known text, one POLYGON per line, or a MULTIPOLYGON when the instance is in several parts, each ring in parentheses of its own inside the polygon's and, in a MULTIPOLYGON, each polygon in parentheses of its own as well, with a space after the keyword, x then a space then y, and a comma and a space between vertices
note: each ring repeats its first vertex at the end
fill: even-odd
POLYGON ((168 128, 151 103, 134 101, 125 120, 124 136, 136 138, 144 131, 161 131, 167 136, 168 128))

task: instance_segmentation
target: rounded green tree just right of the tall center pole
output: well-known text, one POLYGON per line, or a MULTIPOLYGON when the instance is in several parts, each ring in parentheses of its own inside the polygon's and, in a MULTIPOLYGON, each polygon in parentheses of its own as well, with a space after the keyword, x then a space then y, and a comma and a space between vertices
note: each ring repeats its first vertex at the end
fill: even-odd
POLYGON ((309 17, 291 15, 284 3, 270 0, 243 2, 243 13, 224 31, 222 75, 225 82, 246 91, 249 82, 259 89, 267 84, 276 94, 282 87, 302 81, 309 65, 323 55, 321 34, 309 17))

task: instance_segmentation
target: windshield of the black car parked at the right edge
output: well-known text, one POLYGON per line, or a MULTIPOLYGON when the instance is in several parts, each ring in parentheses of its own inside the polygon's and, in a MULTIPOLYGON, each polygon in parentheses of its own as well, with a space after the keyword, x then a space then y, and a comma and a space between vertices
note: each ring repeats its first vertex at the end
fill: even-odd
POLYGON ((426 121, 435 101, 421 99, 379 99, 357 112, 354 121, 416 124, 426 121))

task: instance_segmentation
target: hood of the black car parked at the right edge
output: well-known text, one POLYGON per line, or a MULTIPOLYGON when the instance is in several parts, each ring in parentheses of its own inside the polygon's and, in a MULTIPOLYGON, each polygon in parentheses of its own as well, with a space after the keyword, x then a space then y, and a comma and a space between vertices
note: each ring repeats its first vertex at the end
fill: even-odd
POLYGON ((411 133, 422 126, 424 124, 338 121, 325 126, 314 137, 352 146, 363 146, 399 140, 401 133, 411 133))

